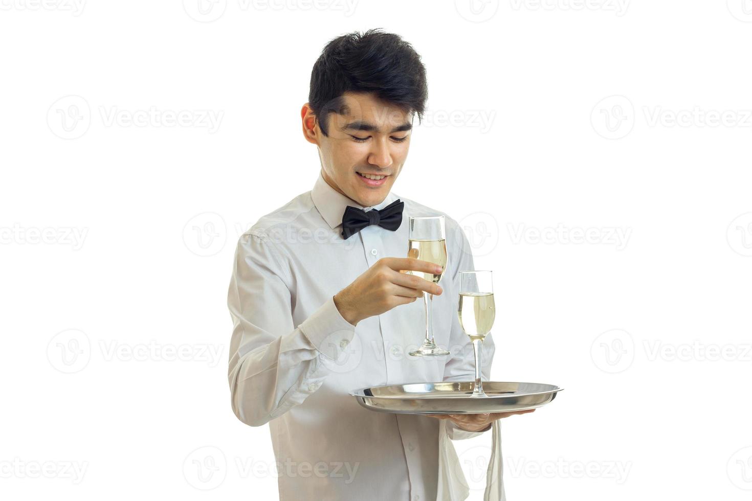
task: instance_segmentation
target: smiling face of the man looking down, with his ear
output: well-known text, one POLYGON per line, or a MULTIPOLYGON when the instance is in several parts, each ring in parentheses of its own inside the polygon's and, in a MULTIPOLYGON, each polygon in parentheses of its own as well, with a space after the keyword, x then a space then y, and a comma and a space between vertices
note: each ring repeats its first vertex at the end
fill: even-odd
POLYGON ((363 207, 387 198, 408 158, 413 114, 370 93, 345 92, 343 113, 329 113, 325 136, 308 104, 303 133, 319 146, 322 176, 329 186, 363 207))

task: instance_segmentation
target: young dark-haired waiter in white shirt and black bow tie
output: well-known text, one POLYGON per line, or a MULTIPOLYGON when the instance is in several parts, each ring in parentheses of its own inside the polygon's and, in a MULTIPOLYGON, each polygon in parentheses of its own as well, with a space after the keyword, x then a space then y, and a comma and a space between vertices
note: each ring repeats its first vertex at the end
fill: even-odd
MULTIPOLYGON (((283 501, 436 499, 439 421, 371 412, 349 394, 474 378, 456 314, 457 273, 474 268, 457 223, 444 215, 441 286, 400 273, 435 268, 406 257, 408 217, 443 214, 391 192, 426 96, 420 56, 399 36, 370 30, 329 42, 301 110, 319 177, 238 242, 228 297, 232 409, 250 426, 270 424, 283 501), (450 355, 408 355, 423 338, 424 291, 435 294, 435 340, 450 355)), ((488 338, 486 379, 493 351, 488 338)), ((440 418, 458 439, 505 416, 440 418)))

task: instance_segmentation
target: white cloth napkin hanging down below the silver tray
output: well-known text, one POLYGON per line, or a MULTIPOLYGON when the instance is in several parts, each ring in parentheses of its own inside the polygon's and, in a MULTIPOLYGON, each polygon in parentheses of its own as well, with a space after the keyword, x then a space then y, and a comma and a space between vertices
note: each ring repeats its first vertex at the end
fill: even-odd
MULTIPOLYGON (((436 501, 464 501, 470 495, 468 482, 459 465, 459 457, 447 432, 448 419, 441 419, 438 429, 438 490, 436 501)), ((486 472, 484 501, 506 501, 502 464, 502 427, 493 421, 491 457, 486 472)))

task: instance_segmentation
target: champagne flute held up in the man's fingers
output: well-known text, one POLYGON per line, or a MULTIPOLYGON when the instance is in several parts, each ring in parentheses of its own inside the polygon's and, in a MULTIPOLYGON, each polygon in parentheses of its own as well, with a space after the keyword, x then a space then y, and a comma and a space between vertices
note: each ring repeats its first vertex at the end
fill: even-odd
MULTIPOLYGON (((423 276, 429 282, 438 283, 447 268, 447 240, 444 234, 444 216, 411 217, 409 219, 408 257, 429 261, 441 266, 441 273, 423 273, 411 271, 423 276)), ((419 357, 436 357, 449 355, 445 349, 436 346, 433 340, 432 306, 433 294, 423 292, 423 304, 426 306, 426 339, 420 348, 410 355, 419 357)))

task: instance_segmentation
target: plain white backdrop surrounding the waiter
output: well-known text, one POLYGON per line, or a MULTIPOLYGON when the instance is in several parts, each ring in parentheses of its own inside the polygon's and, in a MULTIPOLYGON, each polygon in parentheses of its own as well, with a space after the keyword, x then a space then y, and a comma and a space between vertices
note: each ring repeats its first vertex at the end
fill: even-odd
POLYGON ((395 192, 495 270, 493 379, 566 388, 505 421, 508 499, 749 499, 752 2, 474 1, 0 0, 3 499, 277 499, 232 253, 317 177, 320 50, 374 27, 426 64, 395 192))

